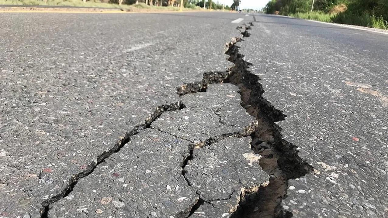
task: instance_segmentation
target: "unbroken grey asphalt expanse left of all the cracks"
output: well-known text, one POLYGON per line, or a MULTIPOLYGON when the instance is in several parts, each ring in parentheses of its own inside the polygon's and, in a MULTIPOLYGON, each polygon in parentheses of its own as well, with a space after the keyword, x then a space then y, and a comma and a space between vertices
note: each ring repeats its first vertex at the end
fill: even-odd
POLYGON ((230 65, 237 14, 96 16, 0 14, 0 216, 40 217, 176 86, 230 65))

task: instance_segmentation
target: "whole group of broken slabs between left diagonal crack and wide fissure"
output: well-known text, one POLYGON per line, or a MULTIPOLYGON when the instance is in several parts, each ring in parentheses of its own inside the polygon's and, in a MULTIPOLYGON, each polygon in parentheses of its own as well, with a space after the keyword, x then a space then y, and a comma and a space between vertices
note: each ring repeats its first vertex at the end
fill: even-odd
POLYGON ((236 86, 212 85, 207 92, 187 95, 183 101, 186 108, 179 113, 163 113, 151 128, 133 136, 119 152, 80 179, 66 197, 49 206, 48 216, 180 218, 190 215, 199 197, 204 196, 214 200, 218 209, 201 210, 222 217, 237 208, 245 189, 265 185, 268 175, 258 164, 260 156, 250 149, 248 137, 257 121, 240 106, 236 86), (215 114, 217 110, 219 115, 215 114), (223 118, 223 110, 236 111, 240 119, 223 118), (194 149, 197 140, 214 143, 194 149), (185 160, 191 152, 194 159, 189 167, 185 160), (207 179, 199 175, 200 165, 216 160, 222 163, 214 165, 213 174, 207 179), (232 165, 234 170, 230 170, 232 165), (182 167, 187 167, 190 179, 185 178, 182 167), (237 175, 239 172, 244 175, 237 175), (214 196, 206 196, 207 190, 191 185, 191 179, 193 184, 202 184, 213 176, 224 178, 209 183, 214 190, 217 187, 214 196))

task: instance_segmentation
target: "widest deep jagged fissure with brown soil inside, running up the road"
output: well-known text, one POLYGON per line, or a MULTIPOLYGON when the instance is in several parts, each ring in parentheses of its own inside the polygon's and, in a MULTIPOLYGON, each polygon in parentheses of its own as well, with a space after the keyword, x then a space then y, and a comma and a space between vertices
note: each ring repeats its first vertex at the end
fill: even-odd
MULTIPOLYGON (((282 139, 281 128, 275 122, 284 120, 286 116, 263 98, 264 89, 260 78, 248 70, 252 64, 245 61, 244 55, 239 53, 240 47, 236 44, 243 41, 242 38, 250 36, 248 30, 251 29, 251 26, 253 23, 249 23, 249 26, 244 24, 244 26, 237 27, 242 37, 232 38, 225 45, 227 47, 225 54, 229 56, 228 60, 234 63, 234 66, 227 70, 227 73, 211 72, 212 77, 217 78, 211 83, 229 82, 239 87, 241 106, 259 122, 255 132, 251 134, 251 149, 262 156, 259 163, 270 176, 270 182, 267 186, 257 190, 242 192, 239 207, 231 217, 289 218, 292 213, 281 208, 282 199, 287 197, 288 180, 312 172, 312 167, 298 156, 296 146, 282 139)), ((208 84, 205 77, 208 77, 209 73, 205 74, 201 82, 178 87, 177 93, 183 95, 206 91, 208 84)))

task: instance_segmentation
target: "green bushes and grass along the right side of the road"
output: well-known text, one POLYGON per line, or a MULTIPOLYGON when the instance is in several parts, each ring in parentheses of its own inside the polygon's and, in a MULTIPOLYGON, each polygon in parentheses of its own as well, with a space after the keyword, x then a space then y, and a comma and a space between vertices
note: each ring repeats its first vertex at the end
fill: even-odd
POLYGON ((388 29, 388 0, 270 0, 265 13, 388 29))

